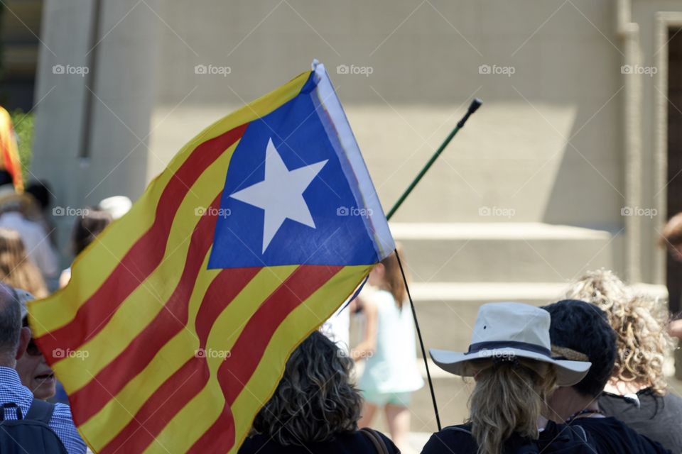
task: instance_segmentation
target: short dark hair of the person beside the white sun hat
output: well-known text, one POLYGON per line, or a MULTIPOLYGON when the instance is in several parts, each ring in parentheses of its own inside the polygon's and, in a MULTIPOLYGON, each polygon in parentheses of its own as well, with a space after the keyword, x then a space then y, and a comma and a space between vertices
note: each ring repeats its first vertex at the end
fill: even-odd
POLYGON ((563 299, 542 309, 551 316, 552 345, 583 353, 592 362, 588 375, 573 388, 583 395, 599 396, 616 361, 616 333, 605 312, 580 299, 563 299))

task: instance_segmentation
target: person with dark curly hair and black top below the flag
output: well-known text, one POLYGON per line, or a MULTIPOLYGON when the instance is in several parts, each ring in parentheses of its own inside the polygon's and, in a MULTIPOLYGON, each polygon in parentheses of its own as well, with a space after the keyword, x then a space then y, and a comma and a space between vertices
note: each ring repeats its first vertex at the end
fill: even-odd
POLYGON ((399 454, 384 434, 358 430, 362 397, 350 381, 352 369, 335 343, 320 331, 310 334, 286 362, 239 454, 399 454))

